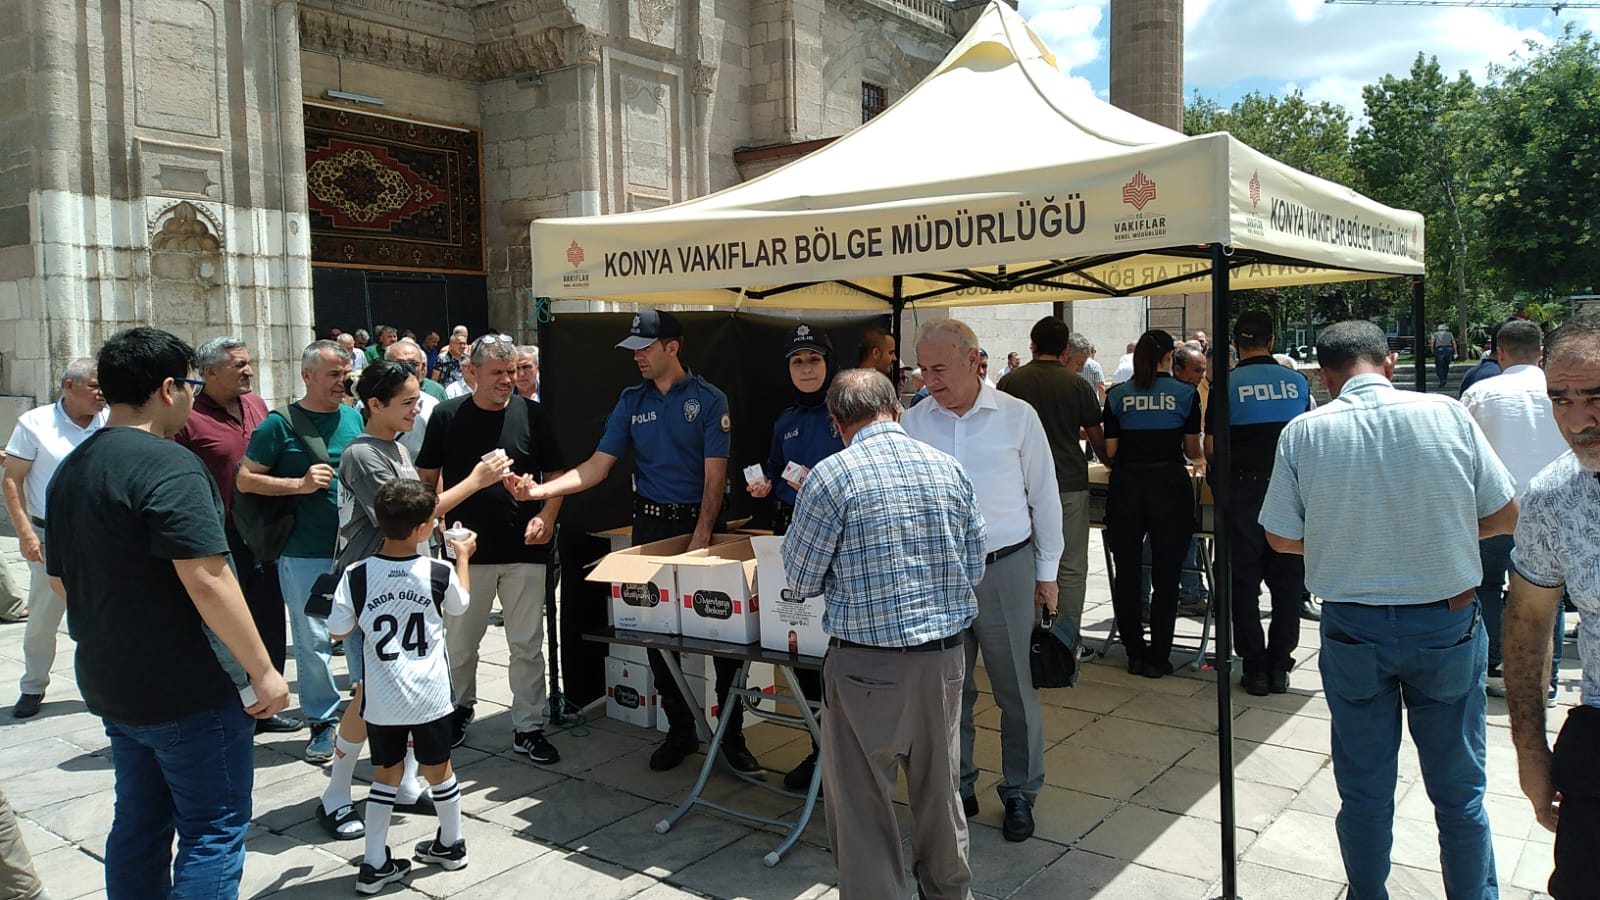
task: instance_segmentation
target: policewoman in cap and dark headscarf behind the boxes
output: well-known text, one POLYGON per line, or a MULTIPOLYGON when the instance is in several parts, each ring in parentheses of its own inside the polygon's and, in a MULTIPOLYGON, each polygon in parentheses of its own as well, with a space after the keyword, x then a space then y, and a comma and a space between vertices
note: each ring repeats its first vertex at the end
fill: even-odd
MULTIPOLYGON (((834 343, 822 331, 814 331, 810 325, 795 327, 789 336, 789 349, 784 352, 789 367, 789 383, 794 384, 795 404, 778 415, 773 424, 773 453, 766 460, 766 480, 746 485, 750 496, 773 495, 773 532, 782 535, 789 530, 789 517, 794 514, 795 495, 805 474, 824 458, 845 448, 838 437, 838 426, 834 416, 827 415, 827 388, 834 381, 834 343), (784 477, 784 469, 790 463, 805 466, 798 477, 784 477)), ((800 692, 806 700, 818 701, 822 697, 822 676, 813 669, 795 671, 800 681, 800 692)), ((811 743, 811 754, 784 775, 784 786, 803 791, 811 783, 811 772, 816 770, 816 741, 811 743)))

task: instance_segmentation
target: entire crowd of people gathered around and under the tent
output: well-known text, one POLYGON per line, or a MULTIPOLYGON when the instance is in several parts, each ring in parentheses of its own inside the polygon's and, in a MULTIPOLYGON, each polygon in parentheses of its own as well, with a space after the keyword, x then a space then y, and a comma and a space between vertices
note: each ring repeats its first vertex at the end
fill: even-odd
MULTIPOLYGON (((725 524, 728 399, 691 372, 670 312, 638 312, 616 344, 640 381, 571 466, 538 402, 536 348, 466 328, 443 343, 374 333, 309 344, 299 400, 267 410, 243 341, 194 351, 131 328, 98 359, 72 360, 61 399, 27 413, 6 445, 6 509, 34 573, 29 609, 11 610, 27 618, 13 716, 40 713, 70 609, 78 684, 112 740, 114 897, 237 892, 259 732, 307 729, 306 759, 331 764, 317 818, 330 839, 365 841, 360 892, 405 879, 413 860, 467 865, 450 751, 475 719, 496 604, 510 746, 534 764, 560 761, 544 732, 542 644, 562 498, 632 450, 635 544, 704 548, 725 524), (126 585, 141 585, 139 604, 126 585), (341 639, 349 703, 333 674, 341 639), (285 713, 290 644, 301 717, 285 713), (374 765, 365 810, 352 796, 363 745, 374 765), (438 818, 410 858, 387 846, 395 812, 438 818)), ((1045 757, 1029 645, 1045 621, 1086 657, 1091 460, 1109 468, 1126 668, 1173 673, 1181 602, 1210 602, 1184 581, 1200 569, 1194 479, 1222 429, 1240 684, 1286 692, 1299 620, 1320 618, 1350 897, 1384 895, 1402 706, 1446 890, 1494 895, 1486 690, 1506 695, 1522 785, 1557 831, 1552 894, 1586 890, 1586 850, 1600 841, 1586 765, 1600 746, 1600 519, 1584 512, 1600 500, 1600 319, 1578 317, 1547 341, 1507 322, 1496 370, 1461 402, 1397 391, 1387 338, 1366 322, 1317 338, 1331 397, 1322 407, 1306 375, 1274 356, 1267 315, 1240 315, 1232 335, 1232 348, 1210 348, 1203 331, 1179 343, 1150 330, 1107 376, 1090 341, 1045 317, 1030 359, 1008 354, 990 381, 987 352, 954 319, 917 331, 912 370, 880 330, 850 368, 821 328, 789 333, 792 404, 773 423, 763 477, 744 490, 774 509, 792 589, 826 602, 826 663, 800 679, 822 708, 821 740, 784 781, 803 788, 821 767, 842 895, 904 884, 890 796, 899 765, 922 895, 971 895, 979 657, 1000 708, 1002 831, 1032 836, 1045 757), (1227 397, 1210 391, 1218 365, 1230 368, 1227 397), (1370 565, 1397 557, 1429 564, 1370 565), (1584 690, 1552 751, 1544 709, 1563 601, 1582 613, 1584 690)), ((699 751, 699 735, 666 660, 651 650, 650 663, 669 729, 648 764, 669 770, 699 751)), ((715 660, 720 751, 757 773, 741 708, 728 705, 738 669, 715 660)))

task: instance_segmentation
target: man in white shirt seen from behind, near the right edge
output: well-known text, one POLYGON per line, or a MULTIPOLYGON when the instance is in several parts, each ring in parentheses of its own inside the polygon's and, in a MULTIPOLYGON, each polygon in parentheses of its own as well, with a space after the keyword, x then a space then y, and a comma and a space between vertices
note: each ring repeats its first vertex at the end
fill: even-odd
MULTIPOLYGON (((1517 482, 1517 498, 1528 490, 1533 476, 1566 452, 1550 397, 1546 392, 1544 370, 1539 368, 1542 335, 1533 322, 1512 319, 1499 328, 1501 375, 1475 383, 1461 396, 1462 405, 1490 439, 1494 455, 1517 482)), ((1483 609, 1483 628, 1490 636, 1490 671, 1486 690, 1491 697, 1506 697, 1506 679, 1501 674, 1501 615, 1504 612, 1506 575, 1510 572, 1514 535, 1496 535, 1478 541, 1478 559, 1483 560, 1483 583, 1478 585, 1478 605, 1483 609)), ((1566 623, 1557 610, 1555 652, 1550 663, 1550 685, 1546 701, 1555 703, 1555 671, 1562 665, 1562 642, 1566 623)))

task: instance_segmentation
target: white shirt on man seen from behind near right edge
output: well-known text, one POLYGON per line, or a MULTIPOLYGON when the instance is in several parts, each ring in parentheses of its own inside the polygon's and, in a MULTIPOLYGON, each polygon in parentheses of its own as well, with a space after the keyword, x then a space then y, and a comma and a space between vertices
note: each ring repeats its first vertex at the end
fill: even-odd
POLYGON ((1538 365, 1514 365, 1475 381, 1461 402, 1517 480, 1517 496, 1528 490, 1539 469, 1566 453, 1566 439, 1550 412, 1544 370, 1538 365))

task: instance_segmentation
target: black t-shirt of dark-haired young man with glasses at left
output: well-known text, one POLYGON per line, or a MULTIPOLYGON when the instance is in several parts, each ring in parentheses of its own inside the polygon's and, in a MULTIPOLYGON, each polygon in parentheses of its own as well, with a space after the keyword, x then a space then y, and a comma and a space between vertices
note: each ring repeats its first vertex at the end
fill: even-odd
POLYGON ((134 428, 94 432, 50 482, 45 552, 91 713, 144 725, 238 705, 173 567, 227 556, 222 496, 198 456, 134 428))

